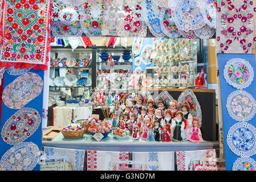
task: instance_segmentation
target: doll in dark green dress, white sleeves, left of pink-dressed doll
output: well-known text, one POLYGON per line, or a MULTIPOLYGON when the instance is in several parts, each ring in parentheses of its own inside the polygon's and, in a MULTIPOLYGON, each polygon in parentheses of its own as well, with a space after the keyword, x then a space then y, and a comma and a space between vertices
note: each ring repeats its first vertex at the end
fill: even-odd
POLYGON ((172 119, 172 125, 170 129, 173 131, 172 139, 174 141, 183 141, 186 139, 186 123, 185 119, 183 119, 182 111, 177 111, 176 117, 172 119))

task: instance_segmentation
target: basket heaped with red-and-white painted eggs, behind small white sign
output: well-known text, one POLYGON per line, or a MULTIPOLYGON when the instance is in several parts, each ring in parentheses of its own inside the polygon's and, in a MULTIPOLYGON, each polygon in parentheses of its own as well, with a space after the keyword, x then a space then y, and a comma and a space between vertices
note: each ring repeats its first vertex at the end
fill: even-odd
POLYGON ((88 125, 87 131, 94 135, 95 133, 101 133, 103 135, 103 138, 107 138, 108 134, 111 132, 113 126, 105 121, 92 121, 90 122, 90 125, 88 125))

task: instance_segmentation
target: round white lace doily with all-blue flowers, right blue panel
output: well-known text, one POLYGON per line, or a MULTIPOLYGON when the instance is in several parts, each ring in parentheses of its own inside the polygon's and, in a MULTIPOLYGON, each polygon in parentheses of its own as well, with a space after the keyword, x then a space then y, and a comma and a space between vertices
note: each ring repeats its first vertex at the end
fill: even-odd
POLYGON ((235 123, 227 134, 227 145, 234 154, 249 157, 256 153, 256 129, 247 122, 235 123))

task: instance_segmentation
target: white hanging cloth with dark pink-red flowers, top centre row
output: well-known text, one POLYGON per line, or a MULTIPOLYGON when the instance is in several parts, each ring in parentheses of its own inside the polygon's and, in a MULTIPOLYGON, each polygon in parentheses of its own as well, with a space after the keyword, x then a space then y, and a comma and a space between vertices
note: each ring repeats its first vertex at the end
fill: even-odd
POLYGON ((147 24, 142 17, 142 1, 124 1, 123 16, 117 22, 117 36, 120 37, 145 37, 147 24))

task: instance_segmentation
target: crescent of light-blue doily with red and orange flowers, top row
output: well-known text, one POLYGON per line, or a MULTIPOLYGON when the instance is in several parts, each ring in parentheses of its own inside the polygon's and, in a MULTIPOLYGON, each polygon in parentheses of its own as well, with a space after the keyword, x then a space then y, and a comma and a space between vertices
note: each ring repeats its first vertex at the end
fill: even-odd
POLYGON ((169 36, 169 38, 177 38, 181 35, 181 32, 174 23, 171 9, 162 7, 160 13, 160 24, 162 31, 166 36, 169 36))

